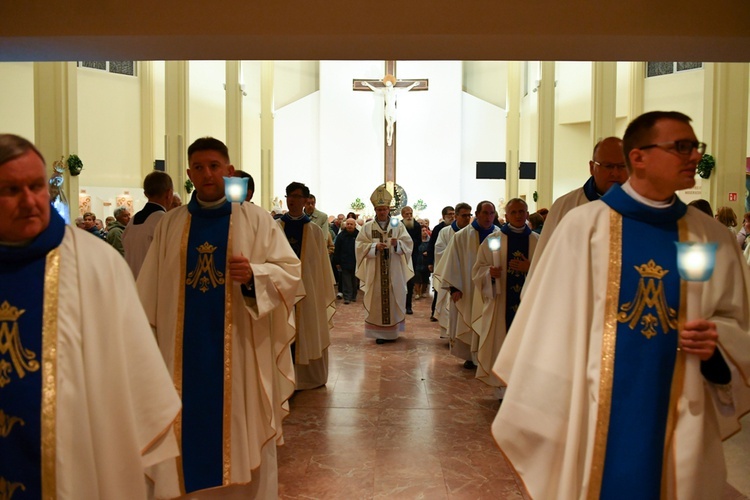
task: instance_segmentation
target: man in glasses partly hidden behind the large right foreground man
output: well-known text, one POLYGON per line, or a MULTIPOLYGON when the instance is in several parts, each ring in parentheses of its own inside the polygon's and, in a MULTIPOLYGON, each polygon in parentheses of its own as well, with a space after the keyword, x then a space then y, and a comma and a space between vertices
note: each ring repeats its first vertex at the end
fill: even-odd
POLYGON ((619 137, 607 137, 596 143, 594 153, 589 162, 591 177, 586 183, 577 189, 561 196, 552 204, 549 214, 544 221, 544 229, 539 236, 539 244, 536 247, 534 260, 531 262, 529 278, 534 272, 536 263, 542 256, 547 242, 552 233, 560 223, 565 214, 575 207, 590 201, 598 200, 615 184, 622 184, 628 180, 628 171, 625 167, 625 157, 622 154, 622 139, 619 137))

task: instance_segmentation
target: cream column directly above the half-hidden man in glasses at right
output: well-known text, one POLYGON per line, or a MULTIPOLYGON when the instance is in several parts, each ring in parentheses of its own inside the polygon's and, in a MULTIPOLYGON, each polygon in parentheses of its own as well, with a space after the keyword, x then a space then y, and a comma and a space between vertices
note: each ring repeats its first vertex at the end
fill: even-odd
POLYGON ((591 146, 615 135, 617 63, 594 62, 591 67, 591 146))

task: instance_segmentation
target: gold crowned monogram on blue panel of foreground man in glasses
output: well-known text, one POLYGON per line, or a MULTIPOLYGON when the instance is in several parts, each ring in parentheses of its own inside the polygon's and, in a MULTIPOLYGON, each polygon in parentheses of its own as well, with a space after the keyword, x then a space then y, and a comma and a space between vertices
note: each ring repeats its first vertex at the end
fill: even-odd
POLYGON ((667 304, 664 283, 662 282, 662 278, 669 270, 657 265, 653 259, 646 264, 634 267, 641 275, 641 279, 638 280, 638 290, 631 302, 620 306, 617 321, 628 323, 631 330, 635 329, 636 325, 640 323, 643 325, 641 333, 647 339, 656 335, 657 326, 661 326, 664 333, 677 329, 677 311, 667 304), (643 314, 646 308, 655 309, 658 317, 650 312, 643 314))

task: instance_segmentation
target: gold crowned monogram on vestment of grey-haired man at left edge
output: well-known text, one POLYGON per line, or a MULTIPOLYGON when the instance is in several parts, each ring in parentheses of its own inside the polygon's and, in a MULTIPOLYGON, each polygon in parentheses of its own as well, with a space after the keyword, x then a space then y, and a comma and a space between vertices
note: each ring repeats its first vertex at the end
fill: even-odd
POLYGON ((36 353, 26 349, 21 344, 21 334, 18 331, 18 318, 25 313, 25 309, 11 306, 8 301, 0 305, 0 387, 11 382, 10 375, 15 369, 18 378, 26 376, 26 372, 39 370, 36 353), (10 362, 5 359, 10 355, 10 362))

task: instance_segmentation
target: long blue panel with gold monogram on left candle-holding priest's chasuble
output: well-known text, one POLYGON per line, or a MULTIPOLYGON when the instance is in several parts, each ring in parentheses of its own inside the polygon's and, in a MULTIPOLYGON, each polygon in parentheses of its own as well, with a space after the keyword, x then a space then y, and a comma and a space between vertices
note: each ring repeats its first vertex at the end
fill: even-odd
POLYGON ((222 484, 228 207, 191 210, 182 365, 182 463, 188 493, 222 484))

